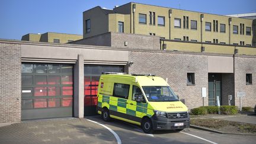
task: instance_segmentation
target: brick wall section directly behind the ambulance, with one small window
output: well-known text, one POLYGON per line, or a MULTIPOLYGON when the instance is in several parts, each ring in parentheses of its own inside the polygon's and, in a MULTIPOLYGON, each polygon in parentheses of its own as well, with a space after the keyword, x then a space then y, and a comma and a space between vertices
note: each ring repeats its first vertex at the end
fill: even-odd
MULTIPOLYGON (((180 99, 185 99, 189 109, 203 105, 201 88, 208 89, 207 55, 133 51, 129 52, 129 60, 134 62, 129 73, 153 73, 168 78, 168 84, 180 99), (195 85, 187 85, 188 72, 195 73, 195 85)), ((208 105, 207 98, 204 105, 208 105)))

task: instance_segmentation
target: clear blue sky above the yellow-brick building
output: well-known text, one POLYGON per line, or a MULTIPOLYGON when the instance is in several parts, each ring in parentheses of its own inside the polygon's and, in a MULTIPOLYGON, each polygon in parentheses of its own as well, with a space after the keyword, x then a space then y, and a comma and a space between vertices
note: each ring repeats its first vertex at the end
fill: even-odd
POLYGON ((219 15, 256 12, 256 0, 0 0, 0 39, 21 40, 28 33, 82 34, 82 12, 128 2, 219 15))

